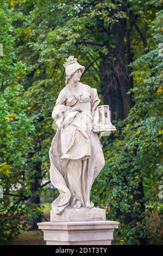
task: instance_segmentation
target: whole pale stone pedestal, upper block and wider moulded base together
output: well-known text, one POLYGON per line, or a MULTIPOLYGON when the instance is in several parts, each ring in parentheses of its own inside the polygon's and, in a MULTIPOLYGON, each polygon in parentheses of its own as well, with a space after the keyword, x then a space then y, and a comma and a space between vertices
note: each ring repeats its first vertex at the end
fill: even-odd
POLYGON ((67 207, 62 215, 51 210, 51 221, 37 223, 46 245, 111 245, 119 222, 106 221, 104 209, 67 207))

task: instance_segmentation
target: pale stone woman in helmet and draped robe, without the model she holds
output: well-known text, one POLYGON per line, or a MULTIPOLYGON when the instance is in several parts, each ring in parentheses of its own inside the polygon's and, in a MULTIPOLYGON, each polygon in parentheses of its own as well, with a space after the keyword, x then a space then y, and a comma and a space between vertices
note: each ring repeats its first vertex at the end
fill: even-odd
POLYGON ((53 212, 61 215, 67 206, 91 209, 93 181, 105 164, 97 126, 97 90, 82 84, 85 67, 73 56, 64 64, 66 86, 59 93, 52 117, 57 123, 49 150, 50 177, 59 196, 52 203, 53 212))

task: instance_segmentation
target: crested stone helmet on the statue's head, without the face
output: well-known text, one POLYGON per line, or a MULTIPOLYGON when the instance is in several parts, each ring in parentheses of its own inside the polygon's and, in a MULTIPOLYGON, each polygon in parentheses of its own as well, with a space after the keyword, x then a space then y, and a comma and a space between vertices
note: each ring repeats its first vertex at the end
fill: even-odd
POLYGON ((71 75, 74 72, 76 72, 78 69, 81 69, 83 74, 85 70, 85 67, 81 66, 77 62, 77 58, 74 58, 73 56, 68 57, 67 61, 63 64, 63 66, 65 68, 66 75, 71 75))

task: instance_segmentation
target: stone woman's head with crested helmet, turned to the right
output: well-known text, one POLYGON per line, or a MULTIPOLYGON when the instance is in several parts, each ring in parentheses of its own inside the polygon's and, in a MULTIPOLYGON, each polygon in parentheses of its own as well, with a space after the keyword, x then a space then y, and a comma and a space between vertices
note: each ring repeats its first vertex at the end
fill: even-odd
POLYGON ((74 81, 80 81, 80 78, 85 70, 84 66, 81 66, 77 62, 77 58, 73 56, 68 57, 67 61, 63 64, 66 72, 66 85, 73 76, 74 81))

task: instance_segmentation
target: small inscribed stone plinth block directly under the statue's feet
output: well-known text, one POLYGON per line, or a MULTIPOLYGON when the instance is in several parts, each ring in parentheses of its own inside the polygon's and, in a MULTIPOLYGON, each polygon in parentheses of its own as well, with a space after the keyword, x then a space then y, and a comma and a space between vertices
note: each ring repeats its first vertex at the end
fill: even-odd
POLYGON ((87 209, 80 207, 74 209, 73 207, 66 207, 61 215, 56 215, 51 210, 51 222, 80 222, 80 221, 106 221, 106 211, 97 207, 87 209))

